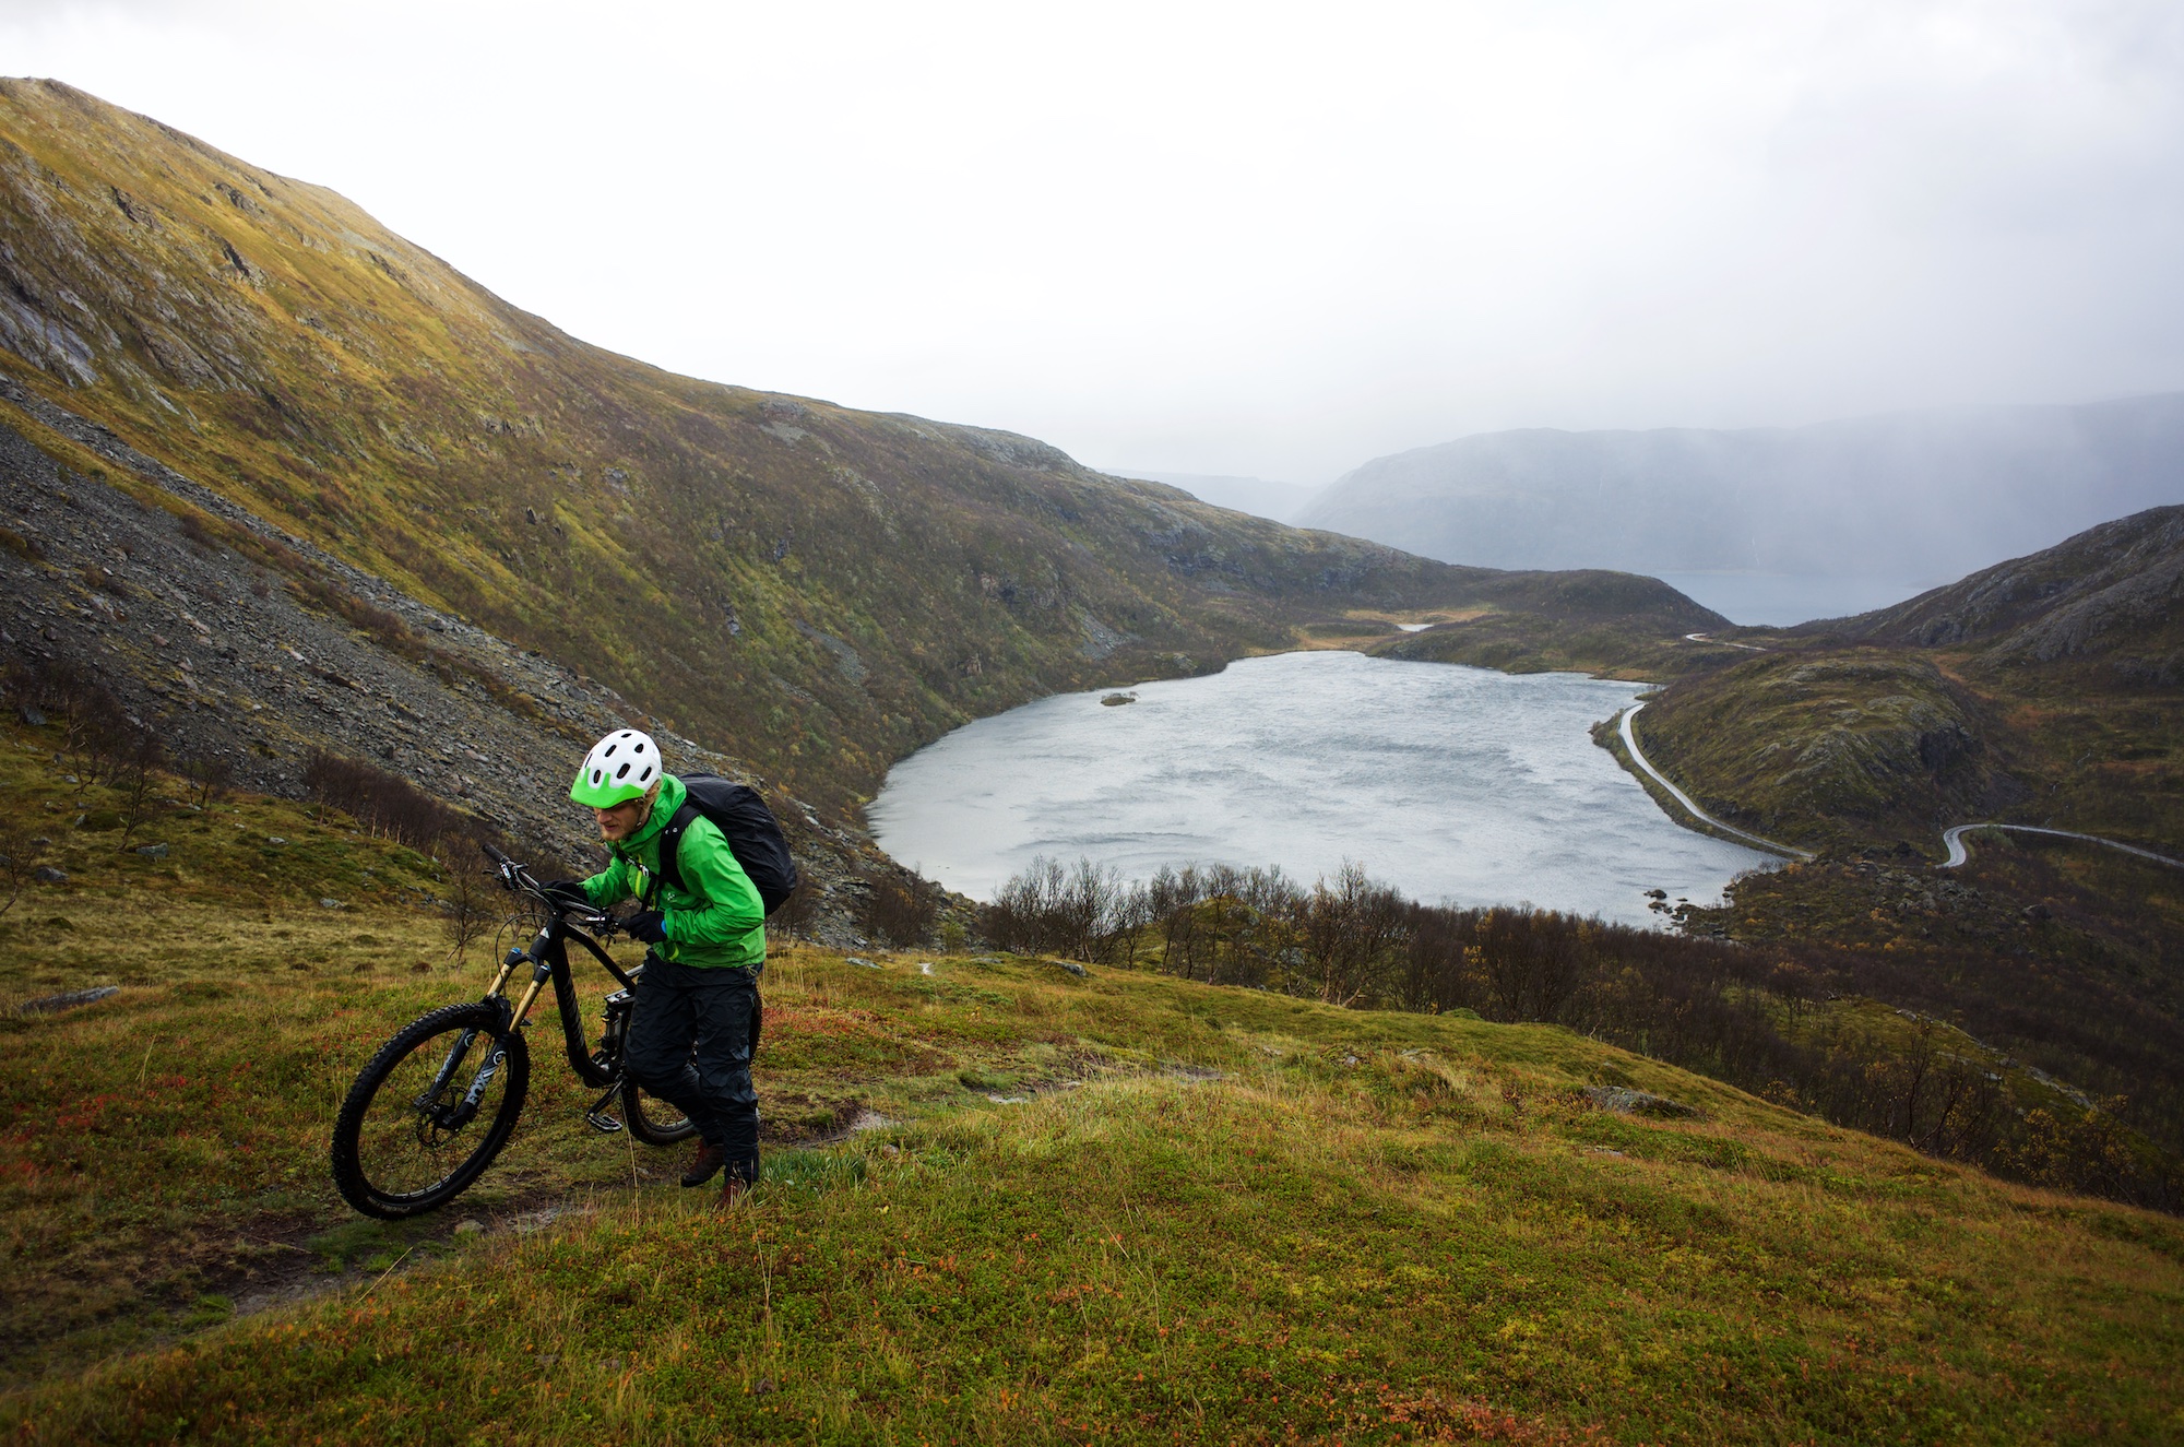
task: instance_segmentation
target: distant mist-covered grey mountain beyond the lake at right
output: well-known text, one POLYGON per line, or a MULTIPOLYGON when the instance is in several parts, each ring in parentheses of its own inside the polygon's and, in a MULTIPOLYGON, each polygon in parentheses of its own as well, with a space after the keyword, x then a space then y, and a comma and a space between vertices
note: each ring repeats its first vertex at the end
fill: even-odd
POLYGON ((1957 577, 2164 503, 2184 503, 2184 393, 1483 433, 1374 459, 1299 522, 1492 568, 1957 577))

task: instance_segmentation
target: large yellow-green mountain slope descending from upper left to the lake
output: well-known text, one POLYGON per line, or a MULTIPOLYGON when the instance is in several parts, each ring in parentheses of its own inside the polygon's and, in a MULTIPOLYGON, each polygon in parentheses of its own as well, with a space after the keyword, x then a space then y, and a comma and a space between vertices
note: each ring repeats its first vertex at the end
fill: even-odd
POLYGON ((1026 437, 646 367, 52 81, 0 81, 0 374, 834 817, 970 717, 1507 592, 1026 437))

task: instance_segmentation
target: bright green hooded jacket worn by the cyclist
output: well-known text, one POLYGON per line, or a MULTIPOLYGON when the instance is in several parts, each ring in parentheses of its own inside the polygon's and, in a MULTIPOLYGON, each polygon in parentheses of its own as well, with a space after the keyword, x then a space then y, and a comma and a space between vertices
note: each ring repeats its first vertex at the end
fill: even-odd
MULTIPOLYGON (((583 881, 583 892, 594 909, 607 909, 636 898, 644 903, 660 874, 660 831, 668 826, 681 809, 688 789, 673 774, 660 778, 660 798, 653 813, 638 833, 607 846, 614 859, 605 872, 583 881)), ((684 887, 660 881, 660 896, 651 901, 662 911, 666 944, 655 944, 653 953, 677 964, 756 970, 767 964, 767 907, 758 901, 758 887, 743 872, 734 850, 721 828, 708 820, 690 820, 681 848, 675 850, 681 866, 684 887)))

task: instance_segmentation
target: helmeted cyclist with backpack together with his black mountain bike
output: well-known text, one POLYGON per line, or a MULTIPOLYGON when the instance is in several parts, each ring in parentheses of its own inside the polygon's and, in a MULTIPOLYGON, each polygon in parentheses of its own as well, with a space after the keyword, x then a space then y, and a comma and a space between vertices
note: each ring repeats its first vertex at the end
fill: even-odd
POLYGON ((587 1126, 629 1130, 646 1145, 701 1137, 684 1185, 705 1185, 725 1167, 725 1204, 758 1180, 758 975, 767 911, 797 890, 780 822, 749 785, 675 778, 660 765, 660 745, 633 728, 592 748, 570 798, 592 807, 607 868, 542 883, 483 844, 537 933, 509 949, 483 999, 428 1010, 397 1030, 341 1102, 334 1185, 365 1215, 437 1211, 485 1174, 524 1110, 526 1027, 548 992, 570 1069, 603 1091, 583 1113, 587 1126), (627 898, 638 914, 609 914, 627 898), (607 953, 622 929, 649 946, 633 970, 607 953), (572 973, 583 957, 622 986, 601 1001, 596 1040, 572 973))

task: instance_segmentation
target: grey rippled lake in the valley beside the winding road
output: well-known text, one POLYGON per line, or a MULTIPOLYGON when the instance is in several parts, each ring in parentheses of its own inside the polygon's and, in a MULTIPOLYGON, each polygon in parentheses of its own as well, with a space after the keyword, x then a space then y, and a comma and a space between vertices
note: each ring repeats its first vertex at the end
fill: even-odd
POLYGON ((1162 863, 1345 859, 1404 894, 1647 922, 1645 890, 1714 901, 1767 855, 1673 824, 1590 739, 1640 684, 1319 651, 1064 693, 904 758, 882 848, 974 898, 1037 855, 1162 863))

